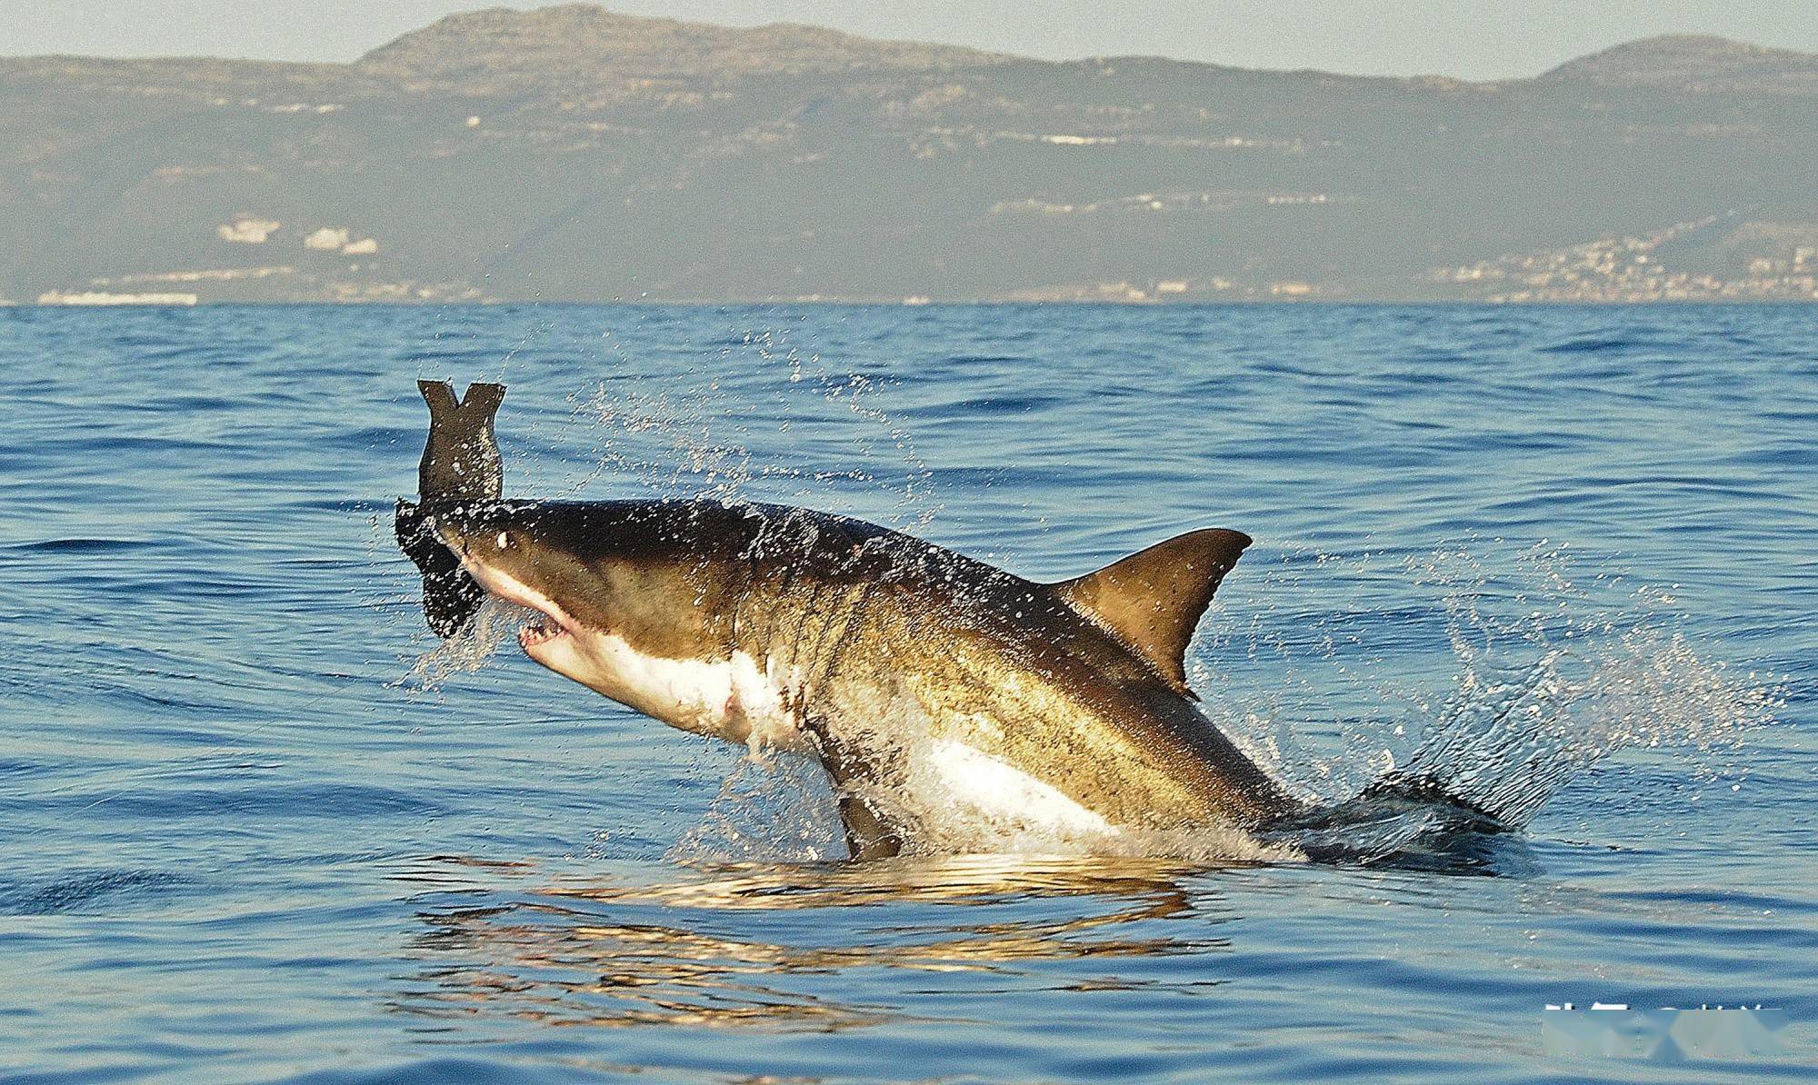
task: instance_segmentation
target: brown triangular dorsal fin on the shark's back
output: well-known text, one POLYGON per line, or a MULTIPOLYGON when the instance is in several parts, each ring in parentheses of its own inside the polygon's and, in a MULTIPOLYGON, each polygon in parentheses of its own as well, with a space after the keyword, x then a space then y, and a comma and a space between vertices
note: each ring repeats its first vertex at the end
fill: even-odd
POLYGON ((1187 642, 1218 582, 1249 543, 1240 531, 1189 531, 1053 589, 1069 607, 1149 660, 1169 685, 1189 692, 1187 642))

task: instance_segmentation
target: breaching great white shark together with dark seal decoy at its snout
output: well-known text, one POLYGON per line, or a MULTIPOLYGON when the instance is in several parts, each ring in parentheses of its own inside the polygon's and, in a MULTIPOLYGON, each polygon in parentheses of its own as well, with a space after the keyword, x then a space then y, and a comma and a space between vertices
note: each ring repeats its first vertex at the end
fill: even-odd
POLYGON ((518 643, 664 723, 804 751, 854 858, 965 849, 958 809, 1094 838, 1262 832, 1313 809, 1196 707, 1185 651, 1251 538, 1209 527, 1062 582, 809 509, 504 500, 500 385, 420 382, 396 533, 431 627, 485 596, 518 643))

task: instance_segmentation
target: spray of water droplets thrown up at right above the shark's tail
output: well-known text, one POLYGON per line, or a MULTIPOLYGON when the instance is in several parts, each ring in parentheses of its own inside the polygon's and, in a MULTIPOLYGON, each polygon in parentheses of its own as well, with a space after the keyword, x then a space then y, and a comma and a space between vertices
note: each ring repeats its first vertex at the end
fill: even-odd
MULTIPOLYGON (((1622 749, 1736 749, 1783 700, 1771 678, 1740 672, 1693 642, 1674 609, 1676 587, 1596 569, 1580 582, 1583 562, 1563 545, 1514 554, 1500 540, 1442 547, 1400 563, 1411 598, 1316 616, 1293 600, 1309 565, 1365 580, 1382 562, 1302 558, 1289 554, 1264 578, 1273 602, 1247 631, 1224 634, 1227 645, 1245 645, 1249 662, 1278 662, 1282 685, 1253 702, 1238 694, 1214 714, 1316 803, 1338 807, 1365 792, 1465 807, 1440 821, 1433 809, 1376 811, 1383 820, 1373 820, 1376 812, 1347 807, 1371 820, 1353 841, 1369 856, 1471 821, 1469 811, 1523 827, 1622 749), (1418 598, 1436 602, 1422 607, 1418 598), (1383 640, 1394 651, 1376 643, 1383 640), (1438 687, 1436 674, 1449 674, 1451 687, 1438 687), (1344 720, 1342 751, 1309 742, 1320 718, 1344 720)), ((1196 676, 1227 682, 1209 665, 1196 676)))

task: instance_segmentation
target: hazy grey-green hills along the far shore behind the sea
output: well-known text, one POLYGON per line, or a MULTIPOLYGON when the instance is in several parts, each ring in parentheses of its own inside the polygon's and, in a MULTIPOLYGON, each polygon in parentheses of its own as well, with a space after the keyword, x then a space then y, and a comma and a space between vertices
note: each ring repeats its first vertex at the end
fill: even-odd
POLYGON ((0 60, 0 296, 1813 298, 1818 56, 1065 64, 593 5, 0 60))

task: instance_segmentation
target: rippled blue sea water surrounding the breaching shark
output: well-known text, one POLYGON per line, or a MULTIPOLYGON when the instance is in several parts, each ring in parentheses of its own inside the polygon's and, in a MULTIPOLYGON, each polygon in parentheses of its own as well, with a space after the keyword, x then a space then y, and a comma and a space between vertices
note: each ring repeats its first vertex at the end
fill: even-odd
POLYGON ((0 1074, 1818 1063, 1814 309, 11 309, 0 373, 0 1074), (1469 869, 842 863, 805 767, 436 645, 389 538, 418 376, 511 385, 507 494, 807 503, 1042 578, 1247 531, 1214 718, 1307 794, 1427 743, 1547 801, 1469 869), (1793 1025, 1547 1054, 1593 1000, 1793 1025))

